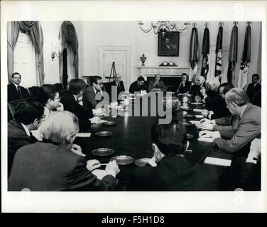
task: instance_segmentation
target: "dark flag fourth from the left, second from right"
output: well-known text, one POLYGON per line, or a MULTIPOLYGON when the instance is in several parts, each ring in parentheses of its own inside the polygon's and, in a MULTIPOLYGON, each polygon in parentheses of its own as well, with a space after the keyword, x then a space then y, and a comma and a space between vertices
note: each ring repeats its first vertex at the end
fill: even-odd
POLYGON ((235 81, 235 65, 237 62, 237 39, 238 39, 238 28, 236 22, 234 22, 234 27, 231 30, 231 40, 228 58, 228 70, 227 70, 227 82, 234 84, 235 81))

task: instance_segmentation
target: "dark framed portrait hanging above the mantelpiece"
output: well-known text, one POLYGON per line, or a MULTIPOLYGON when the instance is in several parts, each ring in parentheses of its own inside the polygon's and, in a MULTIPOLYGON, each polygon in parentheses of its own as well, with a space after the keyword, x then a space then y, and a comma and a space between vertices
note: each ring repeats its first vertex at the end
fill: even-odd
POLYGON ((158 33, 158 56, 179 56, 179 32, 158 33))

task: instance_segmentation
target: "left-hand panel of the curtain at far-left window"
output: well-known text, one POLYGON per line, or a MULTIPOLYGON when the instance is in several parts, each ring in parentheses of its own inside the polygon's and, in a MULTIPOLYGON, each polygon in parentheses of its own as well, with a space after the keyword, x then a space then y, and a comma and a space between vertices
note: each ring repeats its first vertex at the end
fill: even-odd
POLYGON ((7 23, 7 72, 9 82, 14 70, 14 49, 18 40, 19 25, 17 21, 7 23))

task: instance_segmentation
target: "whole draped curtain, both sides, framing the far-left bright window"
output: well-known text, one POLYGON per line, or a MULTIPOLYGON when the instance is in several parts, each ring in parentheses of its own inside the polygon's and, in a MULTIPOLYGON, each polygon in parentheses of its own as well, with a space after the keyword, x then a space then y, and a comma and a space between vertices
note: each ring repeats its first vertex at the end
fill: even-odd
POLYGON ((11 75, 13 74, 14 67, 14 48, 18 40, 19 31, 27 31, 31 36, 33 46, 36 50, 36 66, 38 69, 38 77, 40 85, 43 85, 45 79, 45 73, 43 70, 43 31, 39 21, 11 21, 7 24, 7 52, 8 52, 8 74, 9 81, 11 81, 11 75))

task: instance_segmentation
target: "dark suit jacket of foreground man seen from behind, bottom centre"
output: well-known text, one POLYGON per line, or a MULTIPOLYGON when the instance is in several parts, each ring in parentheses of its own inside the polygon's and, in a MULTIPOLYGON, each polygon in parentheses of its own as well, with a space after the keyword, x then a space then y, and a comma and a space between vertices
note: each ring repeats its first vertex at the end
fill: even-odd
POLYGON ((131 188, 139 191, 216 190, 219 177, 212 165, 192 165, 184 157, 163 157, 157 167, 136 167, 131 188))

